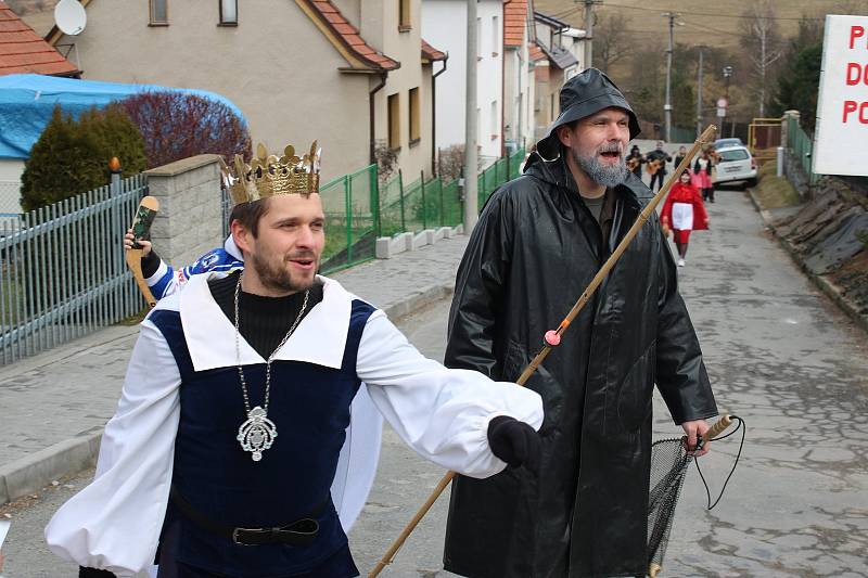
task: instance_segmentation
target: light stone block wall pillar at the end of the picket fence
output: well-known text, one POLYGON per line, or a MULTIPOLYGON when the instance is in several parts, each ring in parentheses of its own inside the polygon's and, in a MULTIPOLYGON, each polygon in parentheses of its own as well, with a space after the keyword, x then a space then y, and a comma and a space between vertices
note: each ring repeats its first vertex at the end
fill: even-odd
POLYGON ((159 201, 151 228, 154 251, 174 267, 224 244, 218 155, 197 155, 145 171, 159 201))

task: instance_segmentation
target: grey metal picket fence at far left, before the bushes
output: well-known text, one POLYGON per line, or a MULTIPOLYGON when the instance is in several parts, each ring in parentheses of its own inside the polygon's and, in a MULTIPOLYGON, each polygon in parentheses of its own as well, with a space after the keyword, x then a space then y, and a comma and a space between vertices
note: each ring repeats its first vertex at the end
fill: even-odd
POLYGON ((138 175, 0 224, 2 364, 142 309, 119 239, 144 194, 138 175))

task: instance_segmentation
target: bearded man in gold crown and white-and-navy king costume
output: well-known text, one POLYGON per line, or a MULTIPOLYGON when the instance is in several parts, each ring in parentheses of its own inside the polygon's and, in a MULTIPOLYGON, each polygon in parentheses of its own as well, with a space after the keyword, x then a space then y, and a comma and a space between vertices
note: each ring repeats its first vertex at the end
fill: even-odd
MULTIPOLYGON (((193 275, 142 322, 97 477, 46 529, 81 577, 152 562, 161 578, 358 576, 344 531, 355 514, 334 488, 362 382, 444 467, 535 466, 537 394, 425 359, 382 311, 316 274, 319 151, 284 153, 260 146, 229 171, 246 267, 193 275)), ((345 486, 370 468, 349 459, 345 486)))

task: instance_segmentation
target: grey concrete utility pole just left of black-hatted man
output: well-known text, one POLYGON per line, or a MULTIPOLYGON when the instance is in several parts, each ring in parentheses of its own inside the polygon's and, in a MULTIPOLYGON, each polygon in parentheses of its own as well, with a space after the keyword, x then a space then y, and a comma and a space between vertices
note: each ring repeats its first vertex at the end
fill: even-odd
POLYGON ((478 220, 476 177, 476 1, 468 0, 468 59, 464 100, 464 234, 469 235, 478 220))

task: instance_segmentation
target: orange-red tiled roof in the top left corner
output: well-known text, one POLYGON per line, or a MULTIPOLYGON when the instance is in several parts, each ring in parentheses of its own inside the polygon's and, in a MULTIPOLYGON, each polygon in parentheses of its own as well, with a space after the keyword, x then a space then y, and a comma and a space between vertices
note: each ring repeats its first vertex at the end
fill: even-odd
POLYGON ((0 75, 73 76, 76 66, 46 42, 0 0, 0 75))

